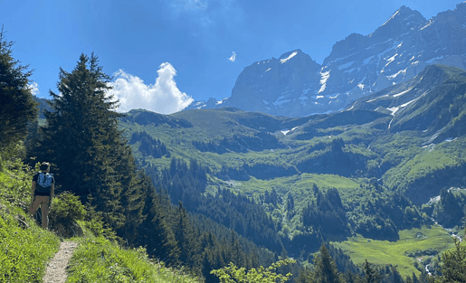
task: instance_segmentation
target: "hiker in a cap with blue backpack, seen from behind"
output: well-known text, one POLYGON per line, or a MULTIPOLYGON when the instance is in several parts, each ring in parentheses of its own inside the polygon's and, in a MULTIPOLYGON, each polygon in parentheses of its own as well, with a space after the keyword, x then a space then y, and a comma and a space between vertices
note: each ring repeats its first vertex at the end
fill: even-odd
POLYGON ((49 173, 49 163, 43 162, 39 168, 41 169, 41 172, 38 172, 33 176, 33 185, 31 187, 33 202, 29 207, 29 213, 33 215, 39 205, 41 205, 42 226, 44 229, 47 229, 49 225, 48 215, 53 198, 55 179, 53 179, 53 175, 49 173))

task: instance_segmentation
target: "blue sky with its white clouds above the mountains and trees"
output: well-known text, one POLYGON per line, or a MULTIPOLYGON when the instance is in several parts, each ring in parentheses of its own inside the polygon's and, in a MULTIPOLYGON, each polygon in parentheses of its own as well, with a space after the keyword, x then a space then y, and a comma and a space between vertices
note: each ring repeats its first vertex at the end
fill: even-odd
POLYGON ((192 99, 231 95, 244 67, 301 49, 322 63, 350 33, 376 30, 401 6, 427 19, 461 0, 0 0, 14 58, 30 64, 34 92, 56 92, 60 67, 95 54, 121 110, 173 113, 192 99))

